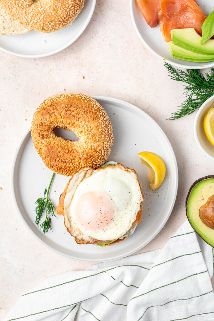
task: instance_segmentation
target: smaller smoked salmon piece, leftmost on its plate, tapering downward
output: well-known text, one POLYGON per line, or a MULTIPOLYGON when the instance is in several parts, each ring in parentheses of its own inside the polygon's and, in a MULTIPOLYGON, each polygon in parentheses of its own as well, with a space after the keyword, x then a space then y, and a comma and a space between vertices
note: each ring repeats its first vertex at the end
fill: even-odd
POLYGON ((148 25, 153 28, 158 24, 158 11, 161 0, 136 0, 137 6, 148 25))

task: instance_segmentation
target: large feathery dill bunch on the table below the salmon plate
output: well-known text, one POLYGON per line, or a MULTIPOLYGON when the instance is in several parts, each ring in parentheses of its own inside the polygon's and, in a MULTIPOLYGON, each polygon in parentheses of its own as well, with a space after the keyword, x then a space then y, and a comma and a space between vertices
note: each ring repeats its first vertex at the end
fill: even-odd
POLYGON ((214 67, 205 75, 202 75, 199 69, 176 70, 167 63, 165 63, 165 67, 171 79, 184 82, 184 95, 186 98, 168 120, 192 114, 201 107, 205 100, 214 94, 214 67))

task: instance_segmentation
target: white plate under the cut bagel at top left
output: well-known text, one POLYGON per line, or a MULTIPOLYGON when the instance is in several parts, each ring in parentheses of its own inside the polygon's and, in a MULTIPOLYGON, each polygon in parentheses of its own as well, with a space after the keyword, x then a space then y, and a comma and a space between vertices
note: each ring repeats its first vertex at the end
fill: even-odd
POLYGON ((0 50, 14 56, 38 58, 56 54, 70 46, 88 26, 96 0, 85 0, 84 7, 74 22, 51 33, 30 31, 23 35, 0 35, 0 50))

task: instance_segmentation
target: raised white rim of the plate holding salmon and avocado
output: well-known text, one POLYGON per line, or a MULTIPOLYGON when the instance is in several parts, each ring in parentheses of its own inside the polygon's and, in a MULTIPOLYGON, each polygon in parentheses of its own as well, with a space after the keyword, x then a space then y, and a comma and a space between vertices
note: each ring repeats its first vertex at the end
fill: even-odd
MULTIPOLYGON (((175 61, 171 61, 161 55, 159 55, 156 51, 154 51, 149 45, 148 43, 143 39, 143 37, 141 36, 141 33, 137 27, 137 24, 135 22, 135 18, 134 18, 134 12, 133 12, 133 3, 135 0, 129 0, 129 8, 130 8, 130 14, 131 14, 131 20, 134 26, 134 29, 138 35, 138 37, 140 38, 140 40, 142 41, 142 43, 144 44, 144 46, 149 49, 153 55, 155 55, 156 57, 160 58, 161 60, 163 60, 164 62, 167 62, 168 64, 175 66, 175 67, 179 67, 179 68, 185 68, 185 69, 205 69, 205 68, 210 68, 214 66, 214 61, 211 61, 210 63, 208 63, 207 65, 185 65, 182 63, 177 63, 175 61)), ((163 40, 164 41, 164 40, 163 40)), ((180 60, 180 59, 177 59, 180 60)), ((185 62, 185 60, 183 60, 185 62)))

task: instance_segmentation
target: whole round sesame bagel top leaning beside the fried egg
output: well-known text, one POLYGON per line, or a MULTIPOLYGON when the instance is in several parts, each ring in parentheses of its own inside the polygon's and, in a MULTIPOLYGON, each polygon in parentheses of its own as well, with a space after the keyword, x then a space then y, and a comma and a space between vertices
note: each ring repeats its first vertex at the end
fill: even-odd
POLYGON ((33 115, 31 136, 45 165, 67 176, 105 163, 114 139, 106 111, 95 99, 83 94, 47 98, 33 115), (79 140, 57 137, 55 127, 70 129, 79 140))

